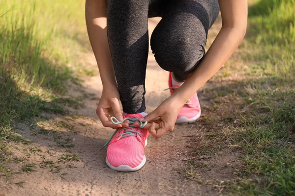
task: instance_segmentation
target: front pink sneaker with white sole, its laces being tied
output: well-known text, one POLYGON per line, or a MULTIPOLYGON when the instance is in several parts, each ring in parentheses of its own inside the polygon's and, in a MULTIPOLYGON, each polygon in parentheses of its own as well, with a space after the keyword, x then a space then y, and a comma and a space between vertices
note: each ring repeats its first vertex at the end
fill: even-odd
MULTIPOLYGON (((130 123, 133 123, 142 117, 141 114, 127 114, 124 120, 128 119, 130 123)), ((117 119, 114 119, 113 123, 117 123, 117 119)), ((147 160, 145 147, 148 144, 147 129, 135 128, 130 124, 129 128, 117 129, 107 144, 109 146, 106 162, 111 169, 119 172, 134 172, 145 165, 147 160)))

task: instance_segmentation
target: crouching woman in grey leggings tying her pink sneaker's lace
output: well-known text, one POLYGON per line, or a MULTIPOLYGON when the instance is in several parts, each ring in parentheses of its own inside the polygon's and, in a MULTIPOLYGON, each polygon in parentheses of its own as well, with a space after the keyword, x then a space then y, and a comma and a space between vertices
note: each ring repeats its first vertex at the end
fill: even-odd
POLYGON ((96 113, 104 126, 117 129, 106 162, 130 172, 146 163, 148 132, 157 139, 175 123, 200 117, 196 92, 242 41, 247 0, 87 0, 86 21, 103 84, 96 113), (222 28, 205 55, 208 29, 219 10, 222 28), (152 33, 151 49, 159 66, 170 72, 171 97, 147 115, 148 17, 154 16, 162 19, 152 33))

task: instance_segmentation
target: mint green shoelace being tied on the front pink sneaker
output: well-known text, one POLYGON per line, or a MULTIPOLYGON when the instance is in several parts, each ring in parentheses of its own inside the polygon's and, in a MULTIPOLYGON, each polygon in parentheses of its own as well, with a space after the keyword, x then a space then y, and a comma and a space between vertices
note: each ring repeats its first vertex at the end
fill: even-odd
POLYGON ((114 124, 123 123, 123 122, 126 121, 126 120, 129 120, 129 122, 130 122, 131 125, 129 124, 129 127, 126 127, 126 128, 119 128, 119 129, 116 129, 115 132, 113 133, 113 135, 111 136, 111 138, 109 139, 109 141, 108 141, 105 145, 103 145, 103 147, 101 147, 101 148, 99 149, 99 151, 100 151, 102 148, 106 147, 106 146, 111 142, 111 140, 113 139, 114 135, 117 133, 118 130, 119 130, 119 132, 122 131, 122 133, 118 134, 118 135, 117 135, 117 138, 118 138, 119 136, 122 136, 121 138, 129 137, 129 136, 135 136, 135 137, 136 137, 136 133, 138 133, 139 135, 141 135, 141 133, 138 132, 138 131, 134 131, 134 130, 126 130, 126 129, 130 129, 130 128, 139 128, 140 130, 142 130, 141 128, 144 128, 144 126, 146 126, 146 124, 148 123, 148 122, 146 122, 146 123, 139 122, 139 123, 140 123, 140 127, 134 127, 134 126, 132 126, 132 124, 135 123, 135 121, 138 121, 139 119, 136 119, 136 118, 132 119, 132 118, 128 118, 128 117, 127 117, 127 118, 125 118, 123 121, 118 121, 118 119, 116 119, 116 117, 111 117, 111 121, 112 121, 112 123, 114 123, 114 124), (126 130, 126 131, 124 131, 124 130, 126 130), (130 133, 135 133, 135 134, 130 134, 130 133), (128 134, 129 134, 129 135, 128 135, 128 134))

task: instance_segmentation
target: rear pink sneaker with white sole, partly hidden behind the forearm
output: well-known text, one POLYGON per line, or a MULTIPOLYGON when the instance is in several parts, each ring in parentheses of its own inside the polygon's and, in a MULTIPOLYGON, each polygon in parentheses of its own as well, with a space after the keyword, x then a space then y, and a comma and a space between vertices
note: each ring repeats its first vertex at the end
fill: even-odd
MULTIPOLYGON (((174 94, 180 86, 172 86, 172 73, 169 73, 169 89, 171 95, 174 94)), ((197 93, 188 99, 181 108, 176 123, 194 123, 201 116, 200 102, 197 93)))

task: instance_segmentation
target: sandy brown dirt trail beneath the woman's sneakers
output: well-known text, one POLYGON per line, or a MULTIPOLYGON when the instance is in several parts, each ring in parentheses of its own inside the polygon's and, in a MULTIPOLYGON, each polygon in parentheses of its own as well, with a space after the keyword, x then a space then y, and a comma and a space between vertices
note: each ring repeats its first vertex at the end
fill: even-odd
MULTIPOLYGON (((154 18, 149 21, 149 33, 152 32, 158 20, 158 18, 154 18)), ((220 22, 218 23, 215 31, 220 26, 220 22)), ((211 43, 211 41, 209 42, 211 43)), ((151 51, 148 56, 146 81, 146 104, 147 110, 150 112, 169 96, 169 92, 164 91, 168 85, 168 73, 157 65, 151 51)), ((68 96, 83 96, 81 91, 75 88, 70 88, 68 96)), ((39 153, 30 153, 29 161, 31 162, 40 165, 44 160, 52 160, 54 163, 58 163, 59 157, 65 149, 69 149, 71 153, 77 153, 81 161, 60 162, 59 165, 62 168, 60 172, 51 172, 50 168, 37 166, 36 172, 14 174, 14 183, 26 181, 23 188, 14 183, 0 184, 0 195, 1 192, 5 196, 218 195, 221 189, 218 189, 218 186, 216 188, 216 186, 210 185, 207 181, 217 180, 218 184, 219 181, 232 177, 232 169, 224 169, 224 165, 231 161, 230 156, 226 157, 226 154, 216 155, 211 159, 208 158, 207 161, 205 160, 205 163, 210 166, 210 170, 206 170, 206 172, 204 170, 194 171, 194 179, 186 177, 187 172, 190 172, 188 158, 196 156, 192 153, 194 143, 192 143, 191 137, 195 136, 196 138, 203 135, 204 127, 202 123, 198 122, 177 125, 173 132, 169 132, 159 140, 154 140, 149 136, 146 147, 147 163, 142 170, 123 173, 109 169, 105 163, 107 148, 98 150, 113 132, 112 129, 103 127, 95 114, 97 98, 100 97, 102 91, 99 76, 85 78, 83 90, 91 96, 84 97, 82 108, 70 108, 70 114, 76 114, 74 119, 73 116, 47 115, 51 123, 43 124, 45 130, 52 128, 54 122, 62 121, 67 125, 74 125, 74 130, 77 133, 73 133, 68 126, 60 128, 62 138, 70 138, 74 147, 57 147, 57 141, 53 141, 51 135, 33 134, 34 130, 31 130, 26 124, 22 125, 23 130, 18 131, 33 141, 32 146, 42 150, 39 153), (203 180, 196 177, 198 175, 202 176, 203 180)), ((202 93, 200 93, 200 97, 201 104, 206 105, 208 101, 202 101, 202 93)), ((24 152, 21 150, 13 149, 13 152, 24 156, 24 152)), ((234 159, 233 162, 235 162, 234 159)), ((11 168, 15 171, 21 170, 20 164, 12 164, 11 168)), ((53 171, 55 170, 57 168, 53 167, 53 171)), ((1 179, 1 182, 3 181, 1 179)))

